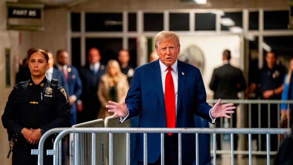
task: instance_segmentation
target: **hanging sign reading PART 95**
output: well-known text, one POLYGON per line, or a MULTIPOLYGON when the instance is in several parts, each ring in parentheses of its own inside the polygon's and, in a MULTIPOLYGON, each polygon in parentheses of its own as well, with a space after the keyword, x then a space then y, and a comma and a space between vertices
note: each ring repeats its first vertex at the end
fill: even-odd
POLYGON ((44 5, 6 3, 8 30, 44 30, 44 5))

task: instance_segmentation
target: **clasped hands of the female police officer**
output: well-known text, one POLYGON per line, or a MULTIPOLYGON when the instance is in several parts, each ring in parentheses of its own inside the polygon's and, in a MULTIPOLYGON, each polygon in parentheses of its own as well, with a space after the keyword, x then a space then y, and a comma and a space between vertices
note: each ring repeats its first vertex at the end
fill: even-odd
POLYGON ((36 130, 32 128, 31 129, 23 128, 20 133, 23 134, 27 142, 33 145, 38 144, 40 138, 42 137, 40 128, 36 130))

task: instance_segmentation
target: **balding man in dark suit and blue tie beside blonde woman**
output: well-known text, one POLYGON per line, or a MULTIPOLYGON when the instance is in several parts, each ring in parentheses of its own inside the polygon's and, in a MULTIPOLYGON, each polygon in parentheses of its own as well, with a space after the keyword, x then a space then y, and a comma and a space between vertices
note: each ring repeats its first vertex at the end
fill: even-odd
POLYGON ((101 76, 105 72, 105 65, 100 63, 101 55, 97 48, 91 48, 88 53, 89 64, 80 70, 82 82, 82 119, 87 122, 97 119, 100 102, 97 96, 101 76))

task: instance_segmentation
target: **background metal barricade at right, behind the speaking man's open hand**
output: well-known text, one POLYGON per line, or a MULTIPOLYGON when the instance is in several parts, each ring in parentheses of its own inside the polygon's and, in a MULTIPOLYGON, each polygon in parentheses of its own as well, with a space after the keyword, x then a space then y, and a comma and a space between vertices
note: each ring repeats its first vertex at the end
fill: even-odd
MULTIPOLYGON (((207 102, 209 104, 215 104, 216 102, 218 102, 217 99, 215 100, 207 100, 207 102)), ((248 123, 248 128, 252 128, 252 115, 251 115, 251 112, 254 112, 254 113, 257 113, 258 115, 258 121, 257 121, 257 127, 258 128, 263 128, 261 127, 261 115, 262 115, 262 112, 261 112, 261 107, 262 105, 267 105, 267 116, 268 116, 268 119, 267 119, 267 125, 268 127, 267 128, 271 128, 271 105, 277 105, 276 107, 276 111, 277 111, 277 116, 275 116, 277 118, 277 128, 280 128, 280 104, 287 104, 287 109, 289 108, 289 104, 293 104, 293 100, 221 100, 221 103, 222 104, 226 104, 226 103, 234 103, 234 104, 237 104, 239 105, 239 107, 241 108, 241 111, 245 111, 245 112, 248 112, 248 120, 244 121, 243 120, 243 117, 241 118, 242 121, 241 123, 245 123, 247 122, 248 123), (245 107, 246 105, 246 107, 245 107), (257 109, 253 109, 251 105, 257 105, 257 109)), ((223 128, 223 119, 224 118, 220 118, 220 123, 221 123, 221 128, 223 128)), ((230 123, 229 123, 229 127, 232 128, 232 120, 235 120, 233 119, 233 117, 231 117, 230 119, 230 123)), ((287 116, 287 120, 288 120, 288 128, 290 127, 289 124, 290 124, 290 117, 287 116)), ((257 154, 257 155, 265 155, 266 154, 266 151, 262 151, 261 150, 261 141, 262 141, 262 138, 261 138, 261 135, 259 134, 258 135, 258 151, 253 151, 254 154, 257 154)), ((223 135, 221 134, 221 139, 223 139, 223 135)), ((242 139, 243 140, 243 139, 242 139)), ((243 142, 240 143, 240 144, 244 144, 243 142)), ((278 136, 278 147, 280 146, 280 136, 278 136)), ((211 151, 212 152, 212 151, 211 151)), ((219 150, 217 153, 219 154, 225 154, 229 151, 225 151, 225 150, 219 150)), ((277 152, 272 152, 273 154, 276 154, 277 152)), ((247 151, 244 151, 244 150, 239 150, 237 149, 237 151, 235 152, 235 154, 248 154, 247 151)))

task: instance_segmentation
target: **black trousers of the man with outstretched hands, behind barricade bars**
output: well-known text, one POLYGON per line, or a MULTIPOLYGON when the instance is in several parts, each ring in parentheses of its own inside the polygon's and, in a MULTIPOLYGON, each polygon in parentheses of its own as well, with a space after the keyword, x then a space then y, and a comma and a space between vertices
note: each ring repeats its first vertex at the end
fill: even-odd
MULTIPOLYGON (((178 134, 172 134, 169 136, 165 134, 165 164, 178 165, 178 134)), ((161 156, 155 163, 147 163, 148 165, 161 165, 161 156)), ((192 165, 192 162, 184 162, 183 165, 192 165)), ((138 161, 138 165, 143 165, 143 162, 138 161)))

